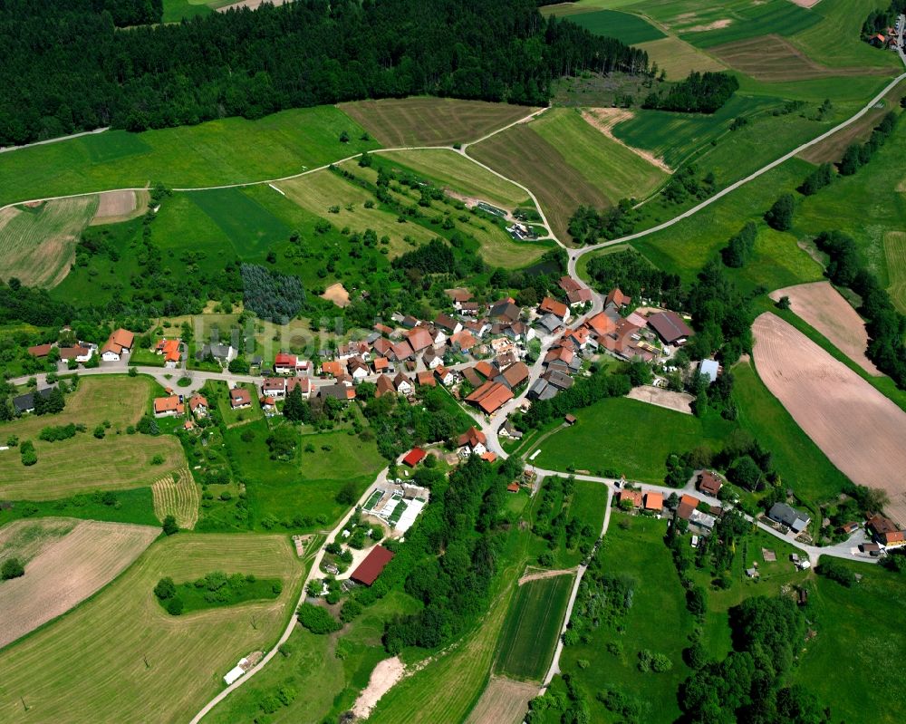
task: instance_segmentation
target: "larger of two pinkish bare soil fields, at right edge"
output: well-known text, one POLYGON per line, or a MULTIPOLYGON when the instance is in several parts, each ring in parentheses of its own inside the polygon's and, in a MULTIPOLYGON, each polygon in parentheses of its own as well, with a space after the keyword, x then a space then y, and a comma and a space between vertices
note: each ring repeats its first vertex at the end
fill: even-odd
POLYGON ((775 314, 752 332, 767 389, 843 474, 886 490, 886 512, 906 524, 906 412, 775 314))

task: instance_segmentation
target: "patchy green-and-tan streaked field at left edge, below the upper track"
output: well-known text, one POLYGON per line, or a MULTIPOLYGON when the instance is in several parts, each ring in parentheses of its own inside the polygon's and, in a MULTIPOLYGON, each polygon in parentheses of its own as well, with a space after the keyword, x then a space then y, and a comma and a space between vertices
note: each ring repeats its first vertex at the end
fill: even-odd
POLYGON ((35 208, 0 212, 4 275, 24 285, 53 287, 69 274, 75 245, 98 207, 96 196, 60 198, 35 208))

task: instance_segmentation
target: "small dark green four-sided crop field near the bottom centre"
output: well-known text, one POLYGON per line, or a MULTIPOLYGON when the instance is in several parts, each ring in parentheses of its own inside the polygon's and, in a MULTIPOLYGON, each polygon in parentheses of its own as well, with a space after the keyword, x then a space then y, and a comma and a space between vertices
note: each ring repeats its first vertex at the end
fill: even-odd
POLYGON ((506 615, 496 671, 514 679, 541 681, 563 625, 573 575, 557 575, 519 586, 506 615))

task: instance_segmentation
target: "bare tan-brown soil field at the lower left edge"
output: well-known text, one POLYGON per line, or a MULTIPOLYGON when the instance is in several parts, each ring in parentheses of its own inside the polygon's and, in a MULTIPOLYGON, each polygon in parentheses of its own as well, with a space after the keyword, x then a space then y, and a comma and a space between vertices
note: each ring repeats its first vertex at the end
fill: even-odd
POLYGON ((0 545, 44 527, 21 578, 0 584, 0 648, 63 615, 124 571, 160 534, 151 526, 48 518, 17 520, 0 530, 0 545), (69 530, 59 533, 63 526, 69 530))

